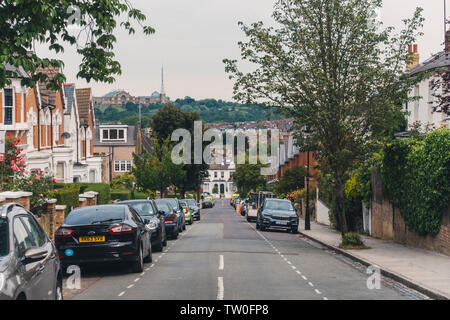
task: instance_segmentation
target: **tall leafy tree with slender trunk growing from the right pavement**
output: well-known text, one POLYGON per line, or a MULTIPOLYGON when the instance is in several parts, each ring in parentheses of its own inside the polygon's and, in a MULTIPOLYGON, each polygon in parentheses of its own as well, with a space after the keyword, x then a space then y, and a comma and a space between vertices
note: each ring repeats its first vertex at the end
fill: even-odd
POLYGON ((255 69, 244 73, 236 60, 224 60, 235 99, 294 117, 298 144, 317 148, 322 171, 334 176, 343 234, 347 173, 393 126, 418 81, 406 71, 406 52, 420 34, 422 10, 394 34, 377 20, 381 6, 381 0, 278 0, 278 27, 240 23, 248 38, 239 43, 241 58, 255 69), (312 130, 308 137, 301 134, 305 128, 312 130))

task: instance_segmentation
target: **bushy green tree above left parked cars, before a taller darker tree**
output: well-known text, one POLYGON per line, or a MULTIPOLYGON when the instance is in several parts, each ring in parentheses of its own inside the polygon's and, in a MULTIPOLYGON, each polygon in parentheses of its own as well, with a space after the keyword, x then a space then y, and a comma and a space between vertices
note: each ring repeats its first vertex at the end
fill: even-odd
POLYGON ((137 185, 146 191, 159 191, 162 196, 169 186, 179 184, 185 172, 182 165, 172 162, 171 156, 170 140, 159 143, 157 138, 153 139, 152 155, 145 150, 140 156, 133 154, 132 173, 137 185))

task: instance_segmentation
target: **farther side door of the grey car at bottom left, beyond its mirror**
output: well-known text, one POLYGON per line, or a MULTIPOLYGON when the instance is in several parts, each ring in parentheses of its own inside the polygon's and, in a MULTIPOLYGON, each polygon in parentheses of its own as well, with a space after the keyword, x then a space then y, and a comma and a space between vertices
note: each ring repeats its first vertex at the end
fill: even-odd
POLYGON ((58 258, 53 244, 46 236, 44 230, 37 221, 30 215, 21 215, 20 219, 33 237, 36 245, 48 252, 47 257, 41 261, 41 273, 38 275, 38 285, 40 294, 45 299, 54 299, 56 284, 58 279, 58 258))

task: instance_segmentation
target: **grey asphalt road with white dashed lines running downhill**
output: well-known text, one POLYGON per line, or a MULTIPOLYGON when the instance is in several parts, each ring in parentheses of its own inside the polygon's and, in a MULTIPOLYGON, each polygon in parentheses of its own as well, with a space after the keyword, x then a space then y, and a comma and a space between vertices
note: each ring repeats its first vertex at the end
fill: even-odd
POLYGON ((341 300, 422 299, 390 279, 367 287, 365 268, 287 232, 258 232, 227 200, 169 241, 142 274, 124 266, 82 270, 82 288, 66 299, 341 300))

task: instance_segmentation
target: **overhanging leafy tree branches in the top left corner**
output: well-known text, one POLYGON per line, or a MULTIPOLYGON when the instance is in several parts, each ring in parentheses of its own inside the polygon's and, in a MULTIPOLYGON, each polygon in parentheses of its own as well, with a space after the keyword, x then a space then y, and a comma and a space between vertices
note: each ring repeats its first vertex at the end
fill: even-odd
MULTIPOLYGON (((18 75, 7 70, 5 64, 21 66, 31 78, 22 79, 22 84, 34 87, 38 80, 45 82, 47 76, 36 69, 42 67, 63 67, 59 59, 30 54, 35 43, 48 45, 48 49, 61 53, 65 46, 76 46, 82 58, 79 78, 87 82, 113 83, 121 74, 121 66, 115 60, 114 45, 117 42, 114 30, 120 26, 129 34, 136 32, 134 23, 139 24, 145 34, 154 29, 142 23, 145 15, 131 5, 129 0, 41 0, 2 1, 0 6, 0 88, 10 84, 10 78, 18 75), (119 23, 120 19, 120 23, 119 23), (79 31, 72 27, 79 26, 79 31)), ((57 90, 65 77, 58 73, 48 82, 48 88, 57 90)))

